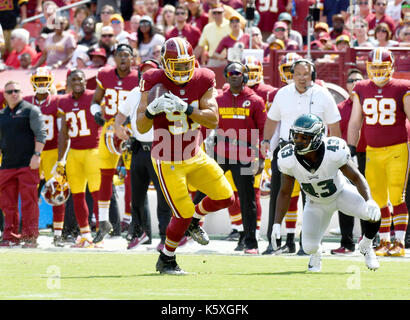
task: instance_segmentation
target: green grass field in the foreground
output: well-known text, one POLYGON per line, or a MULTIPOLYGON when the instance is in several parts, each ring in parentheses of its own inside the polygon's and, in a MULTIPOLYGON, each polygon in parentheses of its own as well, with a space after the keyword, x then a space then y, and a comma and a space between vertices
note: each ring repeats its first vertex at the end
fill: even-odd
POLYGON ((410 261, 324 257, 307 273, 308 257, 180 254, 192 274, 155 272, 157 254, 2 251, 0 299, 410 299, 410 261))

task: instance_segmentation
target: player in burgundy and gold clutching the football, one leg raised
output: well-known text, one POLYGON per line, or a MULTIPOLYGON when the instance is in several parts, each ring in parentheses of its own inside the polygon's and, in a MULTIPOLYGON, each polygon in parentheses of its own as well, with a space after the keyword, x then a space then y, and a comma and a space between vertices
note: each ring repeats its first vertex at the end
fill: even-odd
POLYGON ((143 74, 137 126, 141 133, 154 127, 151 157, 162 192, 173 216, 167 227, 165 247, 156 269, 165 274, 184 274, 175 259, 175 249, 185 232, 200 244, 209 242, 199 225, 209 212, 233 202, 233 191, 222 169, 200 148, 201 125, 218 125, 215 74, 195 68, 192 46, 182 38, 168 39, 161 48, 163 69, 143 74), (150 89, 161 83, 168 92, 148 102, 150 89), (207 196, 196 206, 188 184, 207 196))

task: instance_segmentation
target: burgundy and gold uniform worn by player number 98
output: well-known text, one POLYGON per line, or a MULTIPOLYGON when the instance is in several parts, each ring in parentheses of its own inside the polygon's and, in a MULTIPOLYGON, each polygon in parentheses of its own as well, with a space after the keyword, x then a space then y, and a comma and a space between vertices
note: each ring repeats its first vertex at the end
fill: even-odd
MULTIPOLYGON (((365 176, 372 196, 381 208, 381 239, 390 239, 392 217, 388 201, 393 205, 396 240, 404 239, 408 222, 405 191, 410 168, 404 99, 410 95, 410 81, 390 79, 385 85, 377 86, 374 80, 378 78, 372 77, 373 80, 356 83, 353 90, 364 117, 363 132, 367 142, 365 176)), ((376 254, 404 255, 404 249, 393 254, 393 248, 387 252, 388 246, 384 247, 378 248, 376 254)))

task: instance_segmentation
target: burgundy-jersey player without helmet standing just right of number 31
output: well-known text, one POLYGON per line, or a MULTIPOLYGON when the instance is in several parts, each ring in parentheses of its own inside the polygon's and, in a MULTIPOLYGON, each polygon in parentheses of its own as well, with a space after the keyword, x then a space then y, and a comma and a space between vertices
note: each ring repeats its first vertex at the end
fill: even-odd
POLYGON ((94 93, 91 113, 103 125, 101 132, 99 153, 101 167, 101 189, 98 200, 98 232, 94 242, 101 242, 112 230, 109 221, 109 210, 112 196, 112 181, 120 155, 109 151, 106 144, 107 131, 113 130, 114 118, 118 113, 118 106, 128 93, 138 87, 138 71, 131 69, 133 50, 127 44, 120 44, 115 49, 115 67, 106 67, 98 71, 97 88, 94 93))

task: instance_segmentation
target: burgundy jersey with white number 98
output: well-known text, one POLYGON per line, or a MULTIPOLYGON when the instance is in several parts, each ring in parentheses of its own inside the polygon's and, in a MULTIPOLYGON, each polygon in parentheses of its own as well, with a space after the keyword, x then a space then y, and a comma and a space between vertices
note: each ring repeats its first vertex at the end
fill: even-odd
POLYGON ((371 80, 356 83, 364 116, 363 126, 369 146, 380 148, 407 142, 406 114, 403 99, 410 94, 410 81, 391 79, 383 87, 371 80))

